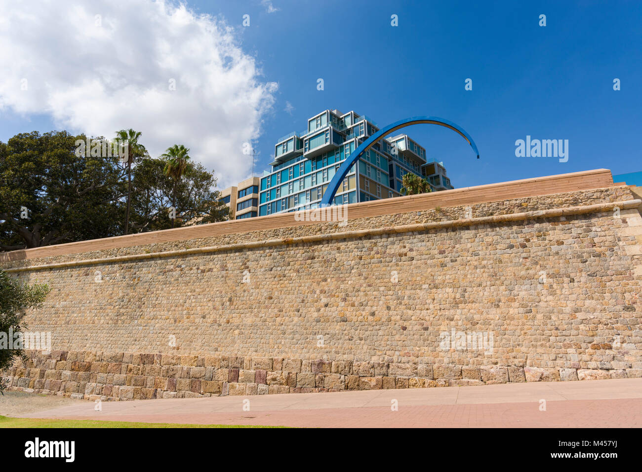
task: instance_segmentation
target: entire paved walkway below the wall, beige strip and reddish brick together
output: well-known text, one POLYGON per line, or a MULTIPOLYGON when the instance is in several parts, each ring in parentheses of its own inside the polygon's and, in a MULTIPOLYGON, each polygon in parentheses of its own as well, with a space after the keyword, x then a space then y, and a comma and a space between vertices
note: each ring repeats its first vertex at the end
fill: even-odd
POLYGON ((101 406, 97 412, 94 403, 74 401, 13 416, 308 427, 642 427, 642 378, 135 400, 101 406), (394 401, 398 410, 392 410, 394 401), (243 410, 244 405, 249 410, 243 410))

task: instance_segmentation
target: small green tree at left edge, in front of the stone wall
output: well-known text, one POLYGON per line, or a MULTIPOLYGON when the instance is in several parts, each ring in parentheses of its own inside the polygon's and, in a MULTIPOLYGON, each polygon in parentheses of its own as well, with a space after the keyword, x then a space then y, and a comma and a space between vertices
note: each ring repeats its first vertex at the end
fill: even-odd
MULTIPOLYGON (((21 323, 24 310, 40 307, 48 293, 48 285, 26 285, 0 269, 0 336, 4 335, 0 344, 8 343, 9 333, 19 333, 27 327, 21 323)), ((0 372, 9 369, 13 361, 19 357, 24 358, 22 349, 10 350, 8 346, 0 346, 0 372)), ((5 382, 0 381, 0 392, 5 387, 5 382)))

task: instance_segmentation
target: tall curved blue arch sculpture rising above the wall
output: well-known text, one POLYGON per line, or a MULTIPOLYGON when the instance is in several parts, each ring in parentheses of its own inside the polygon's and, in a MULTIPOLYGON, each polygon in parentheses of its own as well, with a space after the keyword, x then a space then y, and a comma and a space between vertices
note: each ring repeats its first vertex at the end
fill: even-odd
POLYGON ((480 153, 477 150, 477 146, 475 145, 473 138, 471 138, 463 128, 460 128, 460 126, 457 126, 452 121, 448 121, 443 118, 437 118, 435 116, 414 116, 411 118, 406 118, 401 121, 388 124, 388 126, 374 133, 374 135, 370 136, 367 140, 362 142, 358 148, 354 149, 354 153, 352 153, 349 158, 343 161, 343 164, 341 164, 339 170, 334 174, 334 177, 325 190, 324 196, 319 206, 327 207, 328 205, 332 205, 332 203, 334 202, 334 194, 336 194, 336 191, 339 189, 343 178, 345 178, 345 175, 352 167, 352 164, 357 162, 359 158, 364 155, 368 149, 372 148, 372 146, 374 146, 374 144, 379 139, 385 137, 386 135, 389 135, 390 133, 393 133, 394 131, 400 130, 401 128, 405 128, 406 126, 423 123, 438 124, 440 126, 446 126, 446 128, 450 128, 451 130, 456 131, 468 142, 468 144, 471 145, 471 148, 473 148, 473 151, 475 151, 477 158, 480 158, 480 153))

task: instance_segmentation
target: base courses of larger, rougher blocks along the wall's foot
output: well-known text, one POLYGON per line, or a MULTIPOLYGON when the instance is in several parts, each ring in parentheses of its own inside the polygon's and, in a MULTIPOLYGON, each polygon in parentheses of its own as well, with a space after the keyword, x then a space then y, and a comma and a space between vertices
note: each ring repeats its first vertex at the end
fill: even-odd
POLYGON ((639 378, 642 369, 455 366, 352 360, 54 351, 7 373, 11 389, 85 400, 413 389, 639 378))

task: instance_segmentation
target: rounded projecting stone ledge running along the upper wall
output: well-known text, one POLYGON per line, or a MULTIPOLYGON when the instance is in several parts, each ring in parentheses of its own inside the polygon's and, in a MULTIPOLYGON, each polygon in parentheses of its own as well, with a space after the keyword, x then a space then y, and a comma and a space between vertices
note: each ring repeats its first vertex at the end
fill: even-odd
POLYGON ((159 253, 133 254, 119 257, 97 258, 87 260, 74 260, 70 262, 59 262, 56 264, 43 264, 40 266, 15 267, 13 269, 4 269, 7 273, 17 273, 25 271, 38 271, 46 269, 63 269, 65 267, 91 266, 94 264, 110 264, 114 262, 128 262, 132 260, 144 260, 160 257, 180 257, 196 254, 214 253, 221 251, 238 251, 241 249, 263 248, 265 246, 285 246, 292 244, 306 244, 310 242, 324 242, 337 239, 352 239, 366 236, 377 236, 391 233, 411 233, 424 232, 430 230, 439 230, 443 228, 461 228, 465 226, 474 226, 477 224, 498 224, 510 223, 513 221, 524 221, 529 219, 561 217, 566 215, 578 215, 612 211, 613 208, 621 209, 637 208, 642 204, 642 200, 627 200, 612 203, 598 203, 596 205, 584 205, 567 208, 551 208, 549 210, 538 210, 534 212, 514 213, 508 215, 494 215, 487 217, 458 219, 451 221, 438 221, 434 223, 417 223, 406 224, 403 226, 390 226, 387 228, 373 228, 368 230, 357 230, 340 233, 327 233, 319 235, 309 235, 294 238, 271 239, 262 241, 251 241, 240 244, 226 244, 221 246, 210 246, 205 248, 178 249, 175 251, 164 251, 159 253))

